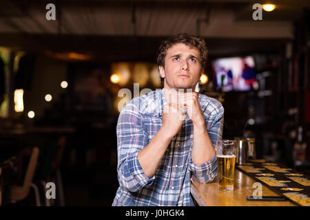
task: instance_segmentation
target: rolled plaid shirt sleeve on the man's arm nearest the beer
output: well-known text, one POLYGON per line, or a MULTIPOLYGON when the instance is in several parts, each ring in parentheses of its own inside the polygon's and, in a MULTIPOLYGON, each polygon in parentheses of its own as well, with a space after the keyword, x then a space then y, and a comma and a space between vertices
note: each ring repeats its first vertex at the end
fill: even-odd
MULTIPOLYGON (((224 108, 220 102, 218 103, 219 107, 216 109, 216 114, 214 114, 214 116, 210 115, 210 117, 205 118, 206 124, 208 124, 207 120, 213 118, 213 120, 211 120, 208 133, 214 147, 216 147, 216 140, 222 140, 223 134, 224 108)), ((200 165, 193 164, 191 157, 189 160, 189 165, 192 174, 199 182, 212 181, 214 177, 218 175, 218 163, 216 154, 214 155, 213 159, 200 165)))

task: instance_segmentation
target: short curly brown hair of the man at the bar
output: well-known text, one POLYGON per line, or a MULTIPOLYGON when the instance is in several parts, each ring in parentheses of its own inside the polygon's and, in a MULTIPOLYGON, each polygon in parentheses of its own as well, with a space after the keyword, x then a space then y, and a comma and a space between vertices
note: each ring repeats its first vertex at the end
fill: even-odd
MULTIPOLYGON (((205 45, 205 40, 203 38, 198 38, 190 34, 176 34, 169 37, 169 39, 163 41, 158 48, 158 66, 165 67, 165 57, 167 54, 167 50, 173 45, 176 45, 177 43, 183 43, 191 48, 197 49, 200 53, 199 62, 201 65, 201 69, 205 68, 205 64, 207 62, 207 46, 205 45)), ((161 78, 161 83, 163 85, 163 78, 161 78)))

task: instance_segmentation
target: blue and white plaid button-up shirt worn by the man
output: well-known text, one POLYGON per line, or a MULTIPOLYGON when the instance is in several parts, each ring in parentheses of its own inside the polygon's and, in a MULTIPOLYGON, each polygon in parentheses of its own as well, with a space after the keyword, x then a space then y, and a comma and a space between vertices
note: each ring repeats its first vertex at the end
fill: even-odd
MULTIPOLYGON (((120 186, 112 206, 194 206, 190 196, 191 175, 208 182, 217 175, 216 155, 205 164, 192 163, 193 124, 187 117, 173 137, 155 174, 143 172, 137 155, 162 125, 164 89, 132 99, 121 111, 116 126, 118 182, 120 186)), ((212 144, 223 132, 222 104, 199 94, 200 108, 212 144)))

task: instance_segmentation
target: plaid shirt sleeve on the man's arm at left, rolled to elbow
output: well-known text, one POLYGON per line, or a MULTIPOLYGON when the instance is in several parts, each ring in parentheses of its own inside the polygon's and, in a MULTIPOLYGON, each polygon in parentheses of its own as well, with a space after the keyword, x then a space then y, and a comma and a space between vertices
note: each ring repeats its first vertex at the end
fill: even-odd
POLYGON ((123 108, 118 117, 116 135, 119 184, 132 192, 152 184, 155 176, 147 177, 138 162, 138 152, 148 144, 148 137, 143 129, 141 114, 132 102, 123 108))

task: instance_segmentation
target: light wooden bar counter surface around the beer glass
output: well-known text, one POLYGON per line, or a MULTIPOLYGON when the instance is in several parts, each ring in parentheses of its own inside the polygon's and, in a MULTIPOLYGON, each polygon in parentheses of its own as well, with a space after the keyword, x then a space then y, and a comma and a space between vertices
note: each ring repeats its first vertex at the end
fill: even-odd
MULTIPOLYGON (((296 206, 295 203, 287 201, 248 201, 256 188, 252 188, 256 181, 235 170, 234 191, 220 192, 217 179, 210 183, 199 183, 193 179, 191 192, 199 206, 296 206)), ((279 196, 267 186, 262 184, 262 196, 279 196)))

